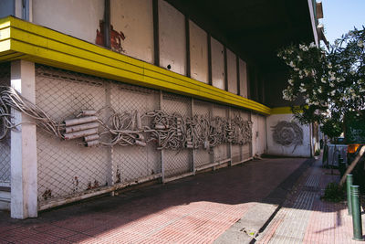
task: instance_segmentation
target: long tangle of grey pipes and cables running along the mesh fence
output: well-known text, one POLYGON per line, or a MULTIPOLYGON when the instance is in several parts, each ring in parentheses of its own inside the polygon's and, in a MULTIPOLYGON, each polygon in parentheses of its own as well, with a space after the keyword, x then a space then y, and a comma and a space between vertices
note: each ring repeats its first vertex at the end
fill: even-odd
POLYGON ((99 111, 76 111, 58 122, 46 111, 26 101, 13 88, 0 88, 3 88, 0 92, 0 140, 16 127, 11 120, 10 108, 25 113, 43 131, 62 140, 78 139, 78 144, 87 147, 156 143, 160 150, 211 150, 219 144, 243 145, 252 140, 252 122, 244 121, 239 115, 233 119, 198 115, 185 117, 164 111, 119 113, 107 107, 99 111), (110 116, 102 120, 100 114, 105 110, 110 110, 110 116))

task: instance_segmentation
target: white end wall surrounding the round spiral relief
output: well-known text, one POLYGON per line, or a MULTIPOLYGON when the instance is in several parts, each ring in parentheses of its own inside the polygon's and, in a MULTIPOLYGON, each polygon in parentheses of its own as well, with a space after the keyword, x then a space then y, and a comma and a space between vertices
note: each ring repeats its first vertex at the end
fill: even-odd
POLYGON ((267 133, 267 154, 282 155, 282 156, 310 156, 310 130, 308 125, 301 125, 294 121, 293 114, 273 114, 266 118, 266 133, 267 133), (290 125, 281 126, 281 129, 275 128, 279 122, 295 122, 301 128, 302 133, 296 133, 290 125), (281 141, 287 143, 283 145, 276 143, 274 133, 277 129, 277 134, 280 135, 281 141), (301 136, 302 140, 297 140, 297 136, 301 136), (292 138, 292 139, 290 139, 292 138), (293 141, 293 143, 289 143, 293 141))

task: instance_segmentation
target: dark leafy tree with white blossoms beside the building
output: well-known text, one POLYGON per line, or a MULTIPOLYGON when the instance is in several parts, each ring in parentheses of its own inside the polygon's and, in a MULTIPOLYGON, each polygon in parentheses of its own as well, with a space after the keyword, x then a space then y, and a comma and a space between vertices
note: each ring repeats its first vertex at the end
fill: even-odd
POLYGON ((293 107, 301 123, 341 121, 346 111, 365 109, 365 28, 354 29, 328 50, 314 43, 282 49, 278 57, 289 66, 283 98, 302 104, 293 107))

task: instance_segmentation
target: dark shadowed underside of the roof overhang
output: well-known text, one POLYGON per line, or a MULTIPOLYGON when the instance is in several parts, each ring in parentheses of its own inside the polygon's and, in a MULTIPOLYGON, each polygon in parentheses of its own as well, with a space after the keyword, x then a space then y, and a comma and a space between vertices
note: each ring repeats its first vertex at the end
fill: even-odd
POLYGON ((308 0, 167 0, 261 67, 276 68, 279 48, 314 40, 308 0))

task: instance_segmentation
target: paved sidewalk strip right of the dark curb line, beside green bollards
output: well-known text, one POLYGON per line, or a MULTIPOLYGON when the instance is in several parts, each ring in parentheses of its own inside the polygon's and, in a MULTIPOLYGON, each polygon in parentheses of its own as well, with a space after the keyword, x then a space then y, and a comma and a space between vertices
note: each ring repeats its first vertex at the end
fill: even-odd
MULTIPOLYGON (((339 175, 320 167, 317 161, 302 175, 297 190, 286 203, 257 243, 357 243, 352 240, 352 219, 344 203, 320 200, 329 182, 339 182, 339 175)), ((362 217, 363 226, 365 224, 362 217)), ((359 243, 359 242, 358 242, 359 243)))

